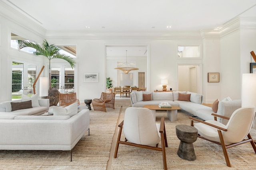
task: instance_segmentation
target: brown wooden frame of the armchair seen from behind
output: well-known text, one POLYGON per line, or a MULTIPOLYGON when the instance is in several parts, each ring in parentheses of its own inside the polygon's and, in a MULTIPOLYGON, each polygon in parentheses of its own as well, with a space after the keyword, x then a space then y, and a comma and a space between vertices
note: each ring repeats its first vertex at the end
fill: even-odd
POLYGON ((118 125, 119 133, 118 133, 118 139, 117 139, 117 142, 116 142, 116 150, 115 150, 115 153, 114 153, 114 158, 117 157, 118 147, 119 147, 120 143, 124 144, 124 145, 134 146, 134 147, 141 147, 141 148, 145 148, 145 149, 158 150, 158 151, 162 152, 164 170, 167 170, 165 147, 168 147, 168 144, 167 144, 167 138, 166 138, 165 125, 164 125, 164 117, 161 118, 160 129, 159 129, 159 132, 161 133, 161 145, 162 145, 162 148, 159 148, 158 144, 156 145, 156 147, 150 147, 150 146, 147 146, 147 145, 138 145, 138 144, 135 144, 135 143, 130 143, 130 142, 127 142, 126 138, 125 138, 124 141, 120 141, 123 125, 124 125, 124 121, 122 121, 118 125))

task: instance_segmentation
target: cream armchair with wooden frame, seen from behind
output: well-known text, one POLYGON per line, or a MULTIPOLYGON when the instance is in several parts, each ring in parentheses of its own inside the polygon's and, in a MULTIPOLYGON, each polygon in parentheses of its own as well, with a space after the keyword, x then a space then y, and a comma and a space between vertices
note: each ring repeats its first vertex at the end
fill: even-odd
POLYGON ((142 107, 128 107, 124 113, 124 120, 118 125, 118 127, 120 128, 114 158, 117 157, 120 143, 134 147, 158 150, 162 152, 164 170, 167 170, 165 147, 168 147, 168 144, 164 117, 161 118, 159 125, 159 123, 155 123, 149 109, 142 107), (124 141, 120 141, 122 130, 125 136, 124 141), (159 136, 158 133, 161 135, 159 136), (160 142, 161 147, 158 146, 158 143, 160 142))

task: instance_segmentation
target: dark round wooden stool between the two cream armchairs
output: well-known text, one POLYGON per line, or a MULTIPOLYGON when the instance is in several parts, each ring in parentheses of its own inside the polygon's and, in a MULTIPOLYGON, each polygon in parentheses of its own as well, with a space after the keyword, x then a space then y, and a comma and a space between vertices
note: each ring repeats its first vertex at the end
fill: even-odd
POLYGON ((180 139, 178 156, 185 160, 196 160, 193 143, 197 139, 198 131, 189 125, 176 125, 176 135, 180 139))

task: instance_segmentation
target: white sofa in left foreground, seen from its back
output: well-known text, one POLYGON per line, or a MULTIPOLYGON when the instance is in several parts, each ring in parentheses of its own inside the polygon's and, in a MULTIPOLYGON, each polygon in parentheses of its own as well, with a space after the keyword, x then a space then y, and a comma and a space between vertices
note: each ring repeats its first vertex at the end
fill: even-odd
POLYGON ((89 109, 72 117, 0 115, 0 150, 71 150, 72 154, 89 127, 89 109))

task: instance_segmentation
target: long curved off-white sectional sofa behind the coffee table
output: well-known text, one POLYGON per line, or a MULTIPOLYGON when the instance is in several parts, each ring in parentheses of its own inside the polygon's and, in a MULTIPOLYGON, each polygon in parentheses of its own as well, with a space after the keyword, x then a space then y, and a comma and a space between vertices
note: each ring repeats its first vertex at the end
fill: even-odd
MULTIPOLYGON (((193 92, 131 92, 131 103, 132 107, 143 107, 145 105, 158 105, 162 102, 168 102, 170 105, 179 106, 184 111, 191 113, 203 120, 214 120, 211 115, 214 113, 211 107, 202 105, 204 95, 193 93, 193 92), (178 100, 178 94, 190 94, 190 102, 178 100), (149 101, 143 101, 143 94, 151 94, 149 101)), ((230 117, 231 114, 238 108, 241 107, 241 100, 232 101, 219 101, 218 111, 216 114, 230 117)), ((224 119, 218 119, 221 123, 224 119)), ((223 122, 222 122, 223 121, 223 122)))

